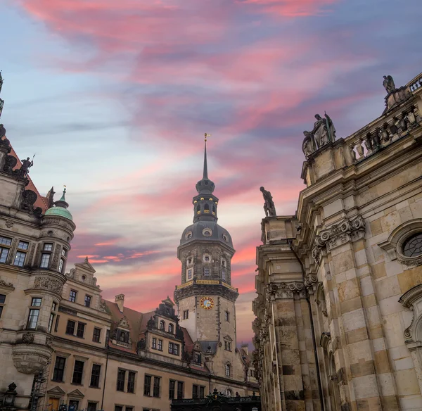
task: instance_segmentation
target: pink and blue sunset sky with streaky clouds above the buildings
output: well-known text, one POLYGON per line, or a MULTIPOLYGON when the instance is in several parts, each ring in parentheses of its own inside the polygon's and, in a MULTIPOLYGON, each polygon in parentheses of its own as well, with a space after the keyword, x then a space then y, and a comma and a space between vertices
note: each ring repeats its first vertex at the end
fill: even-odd
MULTIPOLYGON (((103 298, 156 308, 181 282, 203 134, 250 342, 260 186, 294 215, 303 130, 338 137, 422 71, 420 0, 0 0, 1 122, 41 194, 63 184, 103 298)), ((68 264, 68 269, 70 265, 68 264)))

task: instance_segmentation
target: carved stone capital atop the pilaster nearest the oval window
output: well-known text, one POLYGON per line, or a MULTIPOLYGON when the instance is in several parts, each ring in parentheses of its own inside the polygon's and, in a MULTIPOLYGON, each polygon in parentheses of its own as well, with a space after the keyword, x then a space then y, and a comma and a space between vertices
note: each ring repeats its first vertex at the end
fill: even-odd
POLYGON ((317 264, 321 261, 323 250, 332 250, 349 241, 357 241, 364 238, 365 220, 358 215, 353 218, 346 218, 343 222, 332 225, 328 229, 322 230, 315 236, 314 248, 312 248, 312 257, 317 264))

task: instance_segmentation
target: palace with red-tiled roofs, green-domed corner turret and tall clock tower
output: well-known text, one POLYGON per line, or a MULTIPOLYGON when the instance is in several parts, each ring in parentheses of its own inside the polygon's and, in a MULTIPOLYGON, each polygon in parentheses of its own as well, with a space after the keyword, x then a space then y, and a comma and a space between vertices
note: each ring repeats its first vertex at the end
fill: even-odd
POLYGON ((175 303, 167 296, 142 313, 123 294, 101 297, 88 258, 66 272, 76 226, 65 191, 58 201, 53 188, 41 196, 32 161, 20 161, 1 134, 0 410, 7 398, 13 411, 165 411, 174 398, 214 389, 252 396, 248 347, 236 346, 234 247, 217 224, 206 150, 193 225, 178 248, 175 303))

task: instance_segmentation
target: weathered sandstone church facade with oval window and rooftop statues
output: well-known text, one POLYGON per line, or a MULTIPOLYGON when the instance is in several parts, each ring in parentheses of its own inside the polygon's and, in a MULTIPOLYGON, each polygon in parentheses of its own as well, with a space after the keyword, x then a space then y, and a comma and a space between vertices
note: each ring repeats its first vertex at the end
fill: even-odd
POLYGON ((295 215, 262 220, 262 409, 422 409, 422 74, 349 137, 304 132, 295 215))

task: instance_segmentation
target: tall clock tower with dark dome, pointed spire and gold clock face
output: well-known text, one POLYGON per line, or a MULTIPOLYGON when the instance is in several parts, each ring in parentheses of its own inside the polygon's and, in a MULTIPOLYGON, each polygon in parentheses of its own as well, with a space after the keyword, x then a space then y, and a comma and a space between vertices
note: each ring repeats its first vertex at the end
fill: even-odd
MULTIPOLYGON (((198 343, 212 372, 230 377, 236 356, 238 290, 231 286, 231 258, 235 251, 229 232, 217 224, 218 198, 207 173, 207 139, 203 178, 193 197, 193 224, 184 229, 177 258, 181 284, 174 291, 180 326, 198 343)), ((198 344, 196 346, 198 347, 198 344)))

